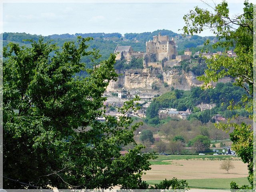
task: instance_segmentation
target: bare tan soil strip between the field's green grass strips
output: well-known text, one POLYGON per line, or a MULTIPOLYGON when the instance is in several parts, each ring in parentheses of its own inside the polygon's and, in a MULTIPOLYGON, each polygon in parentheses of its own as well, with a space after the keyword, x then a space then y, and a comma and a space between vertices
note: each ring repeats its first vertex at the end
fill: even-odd
POLYGON ((234 160, 235 168, 220 170, 220 160, 172 160, 170 165, 152 165, 146 171, 142 180, 164 180, 176 177, 178 179, 211 179, 211 178, 240 178, 247 177, 247 164, 234 160))

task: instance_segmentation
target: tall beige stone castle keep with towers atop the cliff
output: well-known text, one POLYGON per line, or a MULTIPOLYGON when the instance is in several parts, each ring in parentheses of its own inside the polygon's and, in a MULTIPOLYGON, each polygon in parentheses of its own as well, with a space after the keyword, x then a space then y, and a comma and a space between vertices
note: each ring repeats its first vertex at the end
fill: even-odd
POLYGON ((176 59, 178 52, 176 50, 176 43, 169 40, 169 36, 161 36, 159 32, 158 36, 153 36, 153 41, 146 42, 146 54, 156 54, 156 60, 161 61, 164 58, 176 59))

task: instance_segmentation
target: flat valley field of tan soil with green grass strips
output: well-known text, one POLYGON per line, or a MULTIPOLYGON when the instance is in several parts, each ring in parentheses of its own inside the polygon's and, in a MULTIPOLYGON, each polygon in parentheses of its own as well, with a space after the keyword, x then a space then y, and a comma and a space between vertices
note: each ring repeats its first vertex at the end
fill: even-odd
POLYGON ((159 156, 152 160, 151 170, 142 176, 149 184, 159 183, 166 179, 176 177, 185 179, 190 188, 204 189, 230 189, 230 182, 237 182, 239 185, 248 185, 247 164, 234 156, 225 155, 170 155, 159 156), (220 170, 222 160, 230 159, 235 168, 220 170), (157 178, 157 179, 156 179, 157 178))

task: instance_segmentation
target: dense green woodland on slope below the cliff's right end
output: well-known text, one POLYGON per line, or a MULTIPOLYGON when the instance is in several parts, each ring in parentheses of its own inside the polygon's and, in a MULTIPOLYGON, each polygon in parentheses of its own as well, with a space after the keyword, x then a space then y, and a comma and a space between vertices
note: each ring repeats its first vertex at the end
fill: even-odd
POLYGON ((220 114, 224 118, 230 118, 235 114, 248 117, 250 114, 246 110, 227 110, 232 104, 241 104, 242 96, 246 94, 243 88, 233 86, 231 82, 226 84, 218 83, 214 89, 202 90, 200 87, 192 87, 189 91, 173 90, 154 98, 153 102, 146 110, 146 122, 149 124, 160 124, 158 111, 161 108, 175 108, 177 111, 190 109, 194 114, 188 116, 188 120, 196 119, 202 123, 210 121, 212 116, 220 114), (211 110, 200 111, 199 104, 216 104, 211 110))

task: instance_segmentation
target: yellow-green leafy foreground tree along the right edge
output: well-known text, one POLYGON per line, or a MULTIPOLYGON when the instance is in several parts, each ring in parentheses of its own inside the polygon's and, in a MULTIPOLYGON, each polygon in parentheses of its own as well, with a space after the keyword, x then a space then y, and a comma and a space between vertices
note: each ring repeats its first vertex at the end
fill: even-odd
MULTIPOLYGON (((214 11, 203 10, 196 7, 195 10, 190 10, 189 14, 184 16, 186 26, 183 27, 184 34, 197 34, 205 29, 210 29, 216 37, 218 42, 213 44, 212 48, 223 47, 226 52, 222 56, 214 56, 211 59, 206 59, 208 69, 205 70, 205 76, 200 76, 198 79, 204 81, 202 88, 210 88, 210 82, 217 82, 220 78, 227 76, 234 80, 234 86, 240 86, 244 88, 247 95, 244 95, 241 99, 242 104, 234 104, 233 100, 230 101, 228 109, 234 110, 236 108, 245 108, 248 112, 253 110, 253 36, 254 36, 254 20, 255 5, 244 2, 244 13, 240 15, 230 16, 228 3, 223 1, 220 4, 215 5, 214 11), (237 26, 235 28, 234 26, 237 26), (235 46, 234 52, 236 57, 229 57, 227 51, 235 46)), ((209 44, 210 40, 205 44, 209 44)), ((234 116, 231 119, 235 119, 234 116)), ((250 116, 252 118, 252 116, 250 116)), ((248 163, 249 176, 248 180, 251 186, 247 188, 253 188, 253 171, 251 154, 253 134, 252 128, 245 124, 239 126, 236 123, 230 122, 228 124, 220 123, 218 128, 225 131, 234 127, 235 130, 232 134, 234 140, 232 148, 236 148, 236 152, 242 154, 250 154, 250 158, 241 156, 245 163, 248 163), (244 132, 242 131, 245 131, 244 132), (239 138, 243 138, 239 140, 239 138)), ((238 189, 235 183, 231 185, 232 189, 238 189)), ((244 188, 244 187, 243 187, 244 188)))

